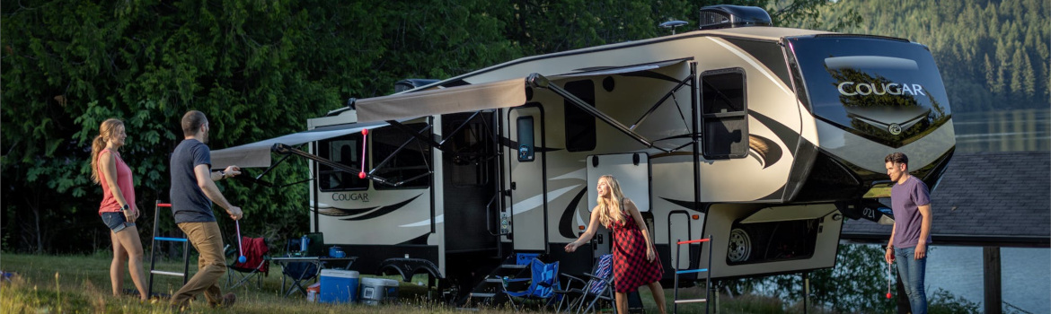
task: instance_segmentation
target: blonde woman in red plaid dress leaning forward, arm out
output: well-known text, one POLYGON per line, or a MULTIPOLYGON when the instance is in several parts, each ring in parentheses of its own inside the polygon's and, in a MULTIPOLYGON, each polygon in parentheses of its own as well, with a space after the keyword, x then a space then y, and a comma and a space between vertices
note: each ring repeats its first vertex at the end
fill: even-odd
POLYGON ((617 313, 627 313, 627 293, 646 285, 653 292, 660 313, 664 311, 664 273, 642 214, 632 200, 624 198, 620 184, 613 175, 602 175, 598 185, 598 206, 592 210, 588 230, 575 242, 565 245, 566 252, 576 251, 595 235, 598 225, 613 229, 613 274, 617 297, 617 313))

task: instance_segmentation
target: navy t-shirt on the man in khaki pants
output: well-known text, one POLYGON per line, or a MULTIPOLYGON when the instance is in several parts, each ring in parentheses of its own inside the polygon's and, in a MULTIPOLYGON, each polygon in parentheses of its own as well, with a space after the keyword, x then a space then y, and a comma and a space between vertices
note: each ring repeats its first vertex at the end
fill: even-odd
POLYGON ((214 222, 211 200, 197 184, 193 167, 208 165, 211 169, 211 150, 198 140, 183 140, 171 153, 171 214, 176 224, 214 222))

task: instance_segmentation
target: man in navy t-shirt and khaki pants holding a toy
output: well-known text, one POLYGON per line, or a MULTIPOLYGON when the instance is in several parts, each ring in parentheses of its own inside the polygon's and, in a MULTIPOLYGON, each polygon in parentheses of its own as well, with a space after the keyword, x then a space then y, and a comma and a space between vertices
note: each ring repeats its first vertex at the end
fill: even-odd
POLYGON ((208 306, 229 307, 236 296, 233 293, 223 296, 219 289, 219 279, 226 273, 226 257, 211 203, 225 208, 234 221, 243 216, 241 208, 226 201, 214 183, 241 174, 241 168, 229 166, 225 170, 211 171, 211 151, 205 145, 210 128, 203 112, 191 110, 183 114, 182 127, 185 140, 171 153, 171 213, 201 257, 198 273, 171 296, 171 305, 184 308, 193 296, 203 292, 208 306))

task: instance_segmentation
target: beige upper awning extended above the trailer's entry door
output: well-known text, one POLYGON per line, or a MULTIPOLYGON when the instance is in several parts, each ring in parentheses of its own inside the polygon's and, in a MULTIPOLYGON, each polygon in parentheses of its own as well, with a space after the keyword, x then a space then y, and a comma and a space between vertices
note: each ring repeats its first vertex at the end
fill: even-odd
MULTIPOLYGON (((586 68, 576 72, 552 76, 550 79, 559 80, 571 77, 624 75, 674 65, 686 66, 686 59, 678 59, 622 67, 586 68)), ((355 103, 357 119, 360 122, 401 120, 432 114, 520 106, 526 104, 527 79, 523 77, 504 81, 360 99, 355 103)))

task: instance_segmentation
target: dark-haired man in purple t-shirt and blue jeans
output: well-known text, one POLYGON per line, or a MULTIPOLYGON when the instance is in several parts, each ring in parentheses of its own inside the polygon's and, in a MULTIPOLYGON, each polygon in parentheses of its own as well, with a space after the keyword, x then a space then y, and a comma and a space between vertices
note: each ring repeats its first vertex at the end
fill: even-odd
POLYGON ((884 159, 890 188, 890 209, 894 227, 884 254, 887 263, 898 261, 898 274, 905 286, 912 314, 927 313, 923 290, 927 269, 927 245, 930 244, 930 191, 927 185, 909 174, 909 158, 894 152, 884 159))

